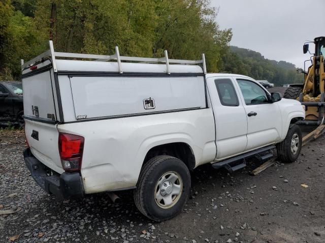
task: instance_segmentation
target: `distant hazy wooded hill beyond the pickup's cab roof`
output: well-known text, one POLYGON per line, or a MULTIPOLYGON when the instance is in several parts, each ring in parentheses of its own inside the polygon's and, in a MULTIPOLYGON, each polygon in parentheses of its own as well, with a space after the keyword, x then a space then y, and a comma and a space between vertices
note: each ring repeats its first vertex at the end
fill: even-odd
POLYGON ((276 85, 303 83, 303 74, 296 72, 296 66, 285 61, 264 58, 261 53, 231 46, 222 57, 220 71, 268 80, 276 85))

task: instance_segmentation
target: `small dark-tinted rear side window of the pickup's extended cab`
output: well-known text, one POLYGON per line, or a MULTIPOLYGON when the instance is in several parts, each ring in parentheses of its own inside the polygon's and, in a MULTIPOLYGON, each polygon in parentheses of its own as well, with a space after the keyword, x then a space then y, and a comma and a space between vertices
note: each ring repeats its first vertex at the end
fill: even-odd
POLYGON ((220 102, 224 106, 238 106, 238 97, 232 80, 229 78, 215 79, 215 86, 218 91, 220 102))

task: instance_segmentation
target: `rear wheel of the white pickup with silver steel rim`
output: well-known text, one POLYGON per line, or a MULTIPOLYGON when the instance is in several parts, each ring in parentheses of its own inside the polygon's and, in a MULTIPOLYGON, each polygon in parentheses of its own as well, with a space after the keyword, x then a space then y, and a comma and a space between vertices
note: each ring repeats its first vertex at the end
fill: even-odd
POLYGON ((190 184, 188 168, 180 159, 168 155, 153 157, 141 170, 137 188, 134 190, 135 204, 149 219, 171 219, 181 212, 186 203, 190 184), (168 173, 172 174, 168 176, 168 173), (178 179, 173 183, 175 178, 178 179), (177 189, 179 193, 174 195, 173 191, 177 189))

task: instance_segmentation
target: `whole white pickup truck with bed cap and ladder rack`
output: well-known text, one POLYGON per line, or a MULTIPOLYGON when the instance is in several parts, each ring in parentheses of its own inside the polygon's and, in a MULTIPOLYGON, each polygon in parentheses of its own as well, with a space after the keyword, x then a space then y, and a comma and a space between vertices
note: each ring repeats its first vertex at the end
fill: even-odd
POLYGON ((202 57, 60 53, 50 42, 22 60, 31 176, 63 198, 133 189, 141 213, 161 221, 181 212, 200 165, 235 171, 275 147, 295 161, 301 103, 247 76, 207 74, 202 57))

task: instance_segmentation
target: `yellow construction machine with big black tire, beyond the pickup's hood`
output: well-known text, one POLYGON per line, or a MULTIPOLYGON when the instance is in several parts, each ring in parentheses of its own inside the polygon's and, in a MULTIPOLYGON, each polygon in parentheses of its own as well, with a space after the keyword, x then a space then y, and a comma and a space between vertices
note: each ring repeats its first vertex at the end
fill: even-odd
POLYGON ((309 52, 309 43, 315 44, 315 53, 310 60, 305 61, 305 65, 307 61, 311 61, 312 64, 307 71, 305 68, 297 70, 298 73, 304 73, 304 84, 290 85, 283 97, 297 99, 305 105, 306 119, 298 121, 299 124, 322 125, 324 124, 325 107, 325 37, 316 37, 313 42, 305 43, 304 54, 309 52))

